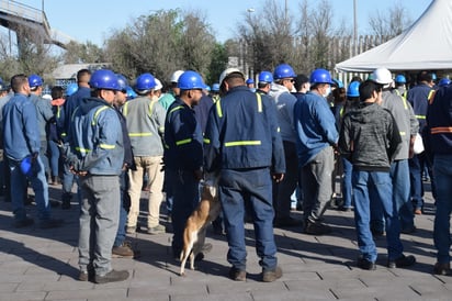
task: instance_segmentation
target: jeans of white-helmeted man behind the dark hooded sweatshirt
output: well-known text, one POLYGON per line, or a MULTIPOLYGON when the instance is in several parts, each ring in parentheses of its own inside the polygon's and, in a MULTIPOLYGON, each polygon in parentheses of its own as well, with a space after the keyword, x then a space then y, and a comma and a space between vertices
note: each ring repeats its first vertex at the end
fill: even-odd
MULTIPOLYGON (((408 159, 395 160, 391 165, 391 179, 393 183, 393 201, 396 205, 402 230, 415 226, 413 203, 410 202, 410 183, 408 159)), ((381 203, 371 204, 371 228, 383 232, 385 219, 381 203)))

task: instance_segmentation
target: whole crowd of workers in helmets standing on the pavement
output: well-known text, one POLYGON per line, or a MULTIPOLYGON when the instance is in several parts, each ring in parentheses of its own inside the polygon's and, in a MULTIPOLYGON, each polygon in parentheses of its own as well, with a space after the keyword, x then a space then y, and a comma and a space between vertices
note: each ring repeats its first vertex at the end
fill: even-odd
POLYGON ((61 185, 60 205, 69 209, 77 183, 79 280, 121 281, 128 271, 113 269, 112 257, 139 256, 127 234, 169 231, 160 220, 163 201, 172 255, 180 257, 200 181, 216 177, 222 214, 213 227, 226 234, 233 280, 247 277, 245 222, 255 226, 262 281, 271 282, 282 276, 273 227, 329 234, 328 208, 353 210, 360 268, 375 269, 374 238, 382 235, 387 267, 402 268, 416 263, 399 236, 416 232, 425 177, 437 208, 433 271, 449 274, 450 80, 437 85, 434 74, 420 71, 408 89, 404 75, 393 79, 378 68, 346 89, 328 70, 297 75, 287 64, 257 79, 228 68, 210 88, 200 74, 178 70, 167 89, 146 73, 132 88, 112 70, 81 69, 77 83, 53 87, 49 97, 37 75, 1 81, 0 192, 12 204, 13 226, 34 223, 25 208, 29 185, 38 226, 61 226, 50 212, 48 185, 61 185), (144 187, 146 226, 138 221, 144 187), (294 209, 302 220, 291 216, 294 209))

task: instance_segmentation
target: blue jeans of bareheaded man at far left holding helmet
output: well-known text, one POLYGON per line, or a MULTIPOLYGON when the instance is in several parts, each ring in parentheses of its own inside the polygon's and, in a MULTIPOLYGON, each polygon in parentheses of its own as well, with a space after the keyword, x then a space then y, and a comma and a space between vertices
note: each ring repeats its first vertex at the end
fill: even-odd
POLYGON ((12 212, 16 220, 23 220, 26 218, 24 199, 26 197, 26 187, 29 180, 32 185, 33 191, 35 193, 35 202, 37 205, 38 219, 48 220, 50 219, 50 205, 48 202, 48 186, 44 170, 44 164, 41 157, 36 157, 37 174, 32 177, 26 177, 22 174, 19 167, 20 161, 9 159, 9 166, 11 170, 11 201, 12 201, 12 212))

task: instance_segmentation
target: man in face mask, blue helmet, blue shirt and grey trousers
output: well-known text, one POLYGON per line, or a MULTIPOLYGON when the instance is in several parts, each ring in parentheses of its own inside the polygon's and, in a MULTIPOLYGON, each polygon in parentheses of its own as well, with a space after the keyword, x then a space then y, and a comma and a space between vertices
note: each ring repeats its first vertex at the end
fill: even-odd
POLYGON ((331 232, 321 215, 332 197, 334 149, 338 143, 336 120, 326 100, 335 83, 325 69, 315 69, 309 81, 310 91, 295 103, 294 122, 304 192, 304 232, 323 235, 331 232))

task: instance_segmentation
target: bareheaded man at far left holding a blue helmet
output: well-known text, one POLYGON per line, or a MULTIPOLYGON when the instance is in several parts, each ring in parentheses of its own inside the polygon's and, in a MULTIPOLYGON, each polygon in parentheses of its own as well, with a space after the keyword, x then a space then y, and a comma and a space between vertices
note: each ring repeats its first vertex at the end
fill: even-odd
MULTIPOLYGON (((3 144, 11 171, 11 205, 15 227, 30 226, 33 219, 26 214, 24 194, 30 181, 35 192, 39 227, 60 226, 63 220, 52 219, 48 185, 44 163, 39 156, 41 135, 37 126, 36 107, 29 100, 30 83, 25 75, 11 78, 14 96, 2 109, 3 144), (26 169, 23 163, 30 163, 26 169), (24 166, 22 166, 24 167, 24 166)), ((25 164, 26 165, 26 164, 25 164)))

